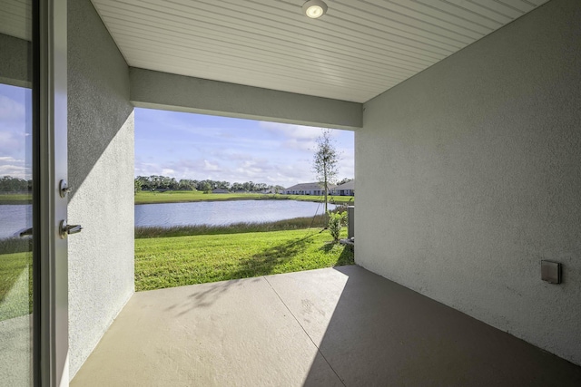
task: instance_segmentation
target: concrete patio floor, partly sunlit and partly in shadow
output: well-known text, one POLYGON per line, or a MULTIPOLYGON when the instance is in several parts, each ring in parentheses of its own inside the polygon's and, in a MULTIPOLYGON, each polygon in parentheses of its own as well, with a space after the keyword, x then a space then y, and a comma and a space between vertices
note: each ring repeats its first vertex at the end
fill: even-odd
POLYGON ((581 367, 359 266, 133 295, 73 386, 580 386, 581 367))

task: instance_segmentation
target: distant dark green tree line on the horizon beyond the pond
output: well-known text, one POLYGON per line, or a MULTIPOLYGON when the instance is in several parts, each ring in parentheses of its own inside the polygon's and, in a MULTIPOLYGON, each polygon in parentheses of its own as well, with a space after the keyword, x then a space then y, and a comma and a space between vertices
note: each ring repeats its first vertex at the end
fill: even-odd
POLYGON ((170 178, 161 175, 152 176, 138 176, 135 179, 135 192, 146 190, 199 190, 203 192, 211 192, 213 189, 225 189, 230 192, 264 192, 271 191, 273 193, 281 192, 284 187, 273 186, 264 183, 254 183, 246 181, 244 183, 230 183, 228 181, 220 180, 194 180, 194 179, 180 179, 170 178))

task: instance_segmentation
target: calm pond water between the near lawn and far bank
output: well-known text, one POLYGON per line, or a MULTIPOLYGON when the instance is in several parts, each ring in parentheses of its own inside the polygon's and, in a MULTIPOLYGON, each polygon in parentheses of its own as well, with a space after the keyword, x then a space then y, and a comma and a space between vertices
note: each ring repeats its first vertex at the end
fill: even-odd
MULTIPOLYGON (((322 214, 320 203, 296 200, 235 200, 195 203, 141 204, 135 206, 136 227, 186 225, 222 226, 313 217, 322 214)), ((335 208, 329 205, 329 209, 335 208)))

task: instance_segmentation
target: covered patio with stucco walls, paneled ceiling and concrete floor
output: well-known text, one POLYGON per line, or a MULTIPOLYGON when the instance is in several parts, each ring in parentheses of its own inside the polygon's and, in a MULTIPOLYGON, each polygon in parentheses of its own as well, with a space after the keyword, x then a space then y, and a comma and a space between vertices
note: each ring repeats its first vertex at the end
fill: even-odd
POLYGON ((581 2, 38 3, 51 385, 581 385, 581 2), (135 293, 135 107, 355 131, 357 266, 135 293))

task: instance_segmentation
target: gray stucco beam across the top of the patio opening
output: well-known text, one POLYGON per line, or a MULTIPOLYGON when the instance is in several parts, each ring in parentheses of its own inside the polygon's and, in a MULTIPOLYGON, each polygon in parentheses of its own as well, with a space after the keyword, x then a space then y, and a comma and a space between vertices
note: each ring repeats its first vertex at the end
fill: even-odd
POLYGON ((131 101, 140 108, 354 130, 362 105, 292 92, 131 68, 131 101))

